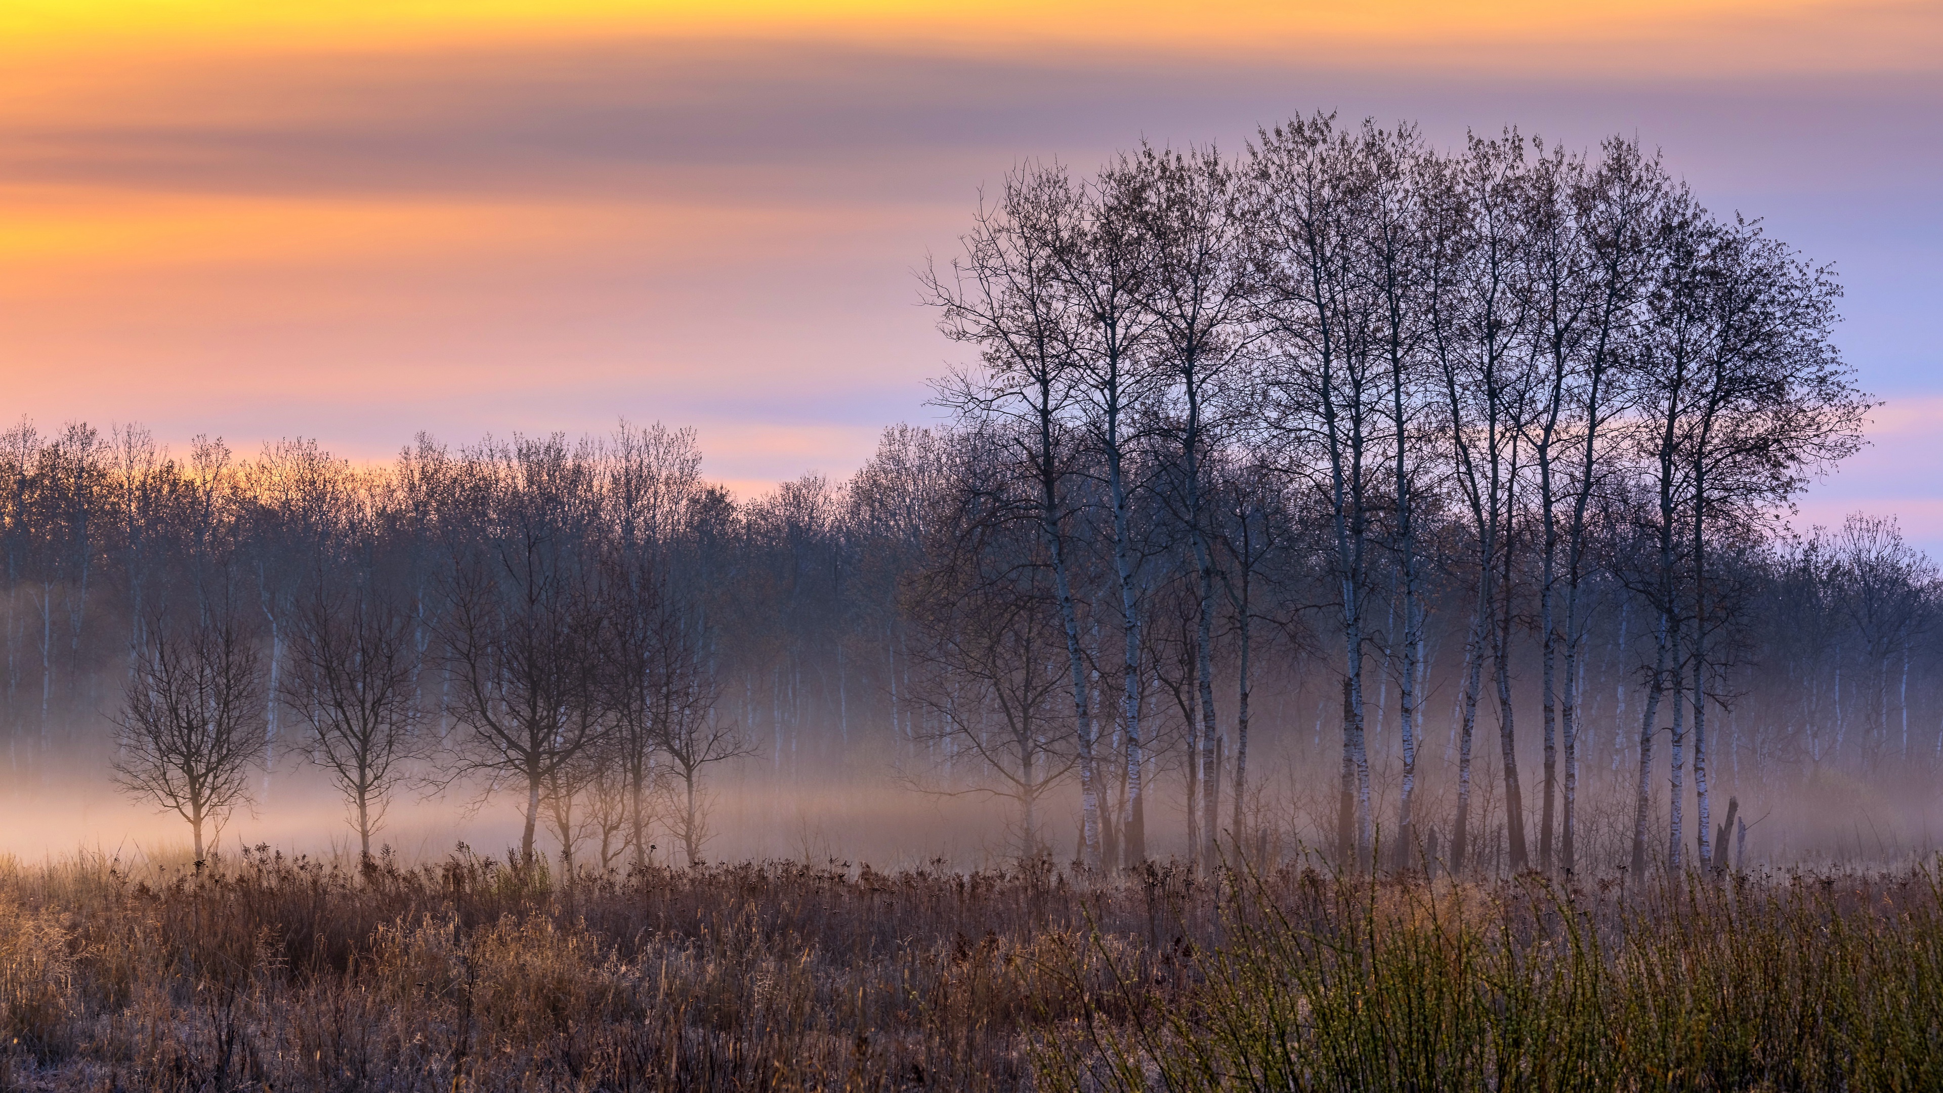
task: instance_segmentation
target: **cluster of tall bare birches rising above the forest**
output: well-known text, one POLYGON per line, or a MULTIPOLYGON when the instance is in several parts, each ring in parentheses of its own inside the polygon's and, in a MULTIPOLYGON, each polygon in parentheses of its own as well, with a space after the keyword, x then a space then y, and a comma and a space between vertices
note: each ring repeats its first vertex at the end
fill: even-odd
MULTIPOLYGON (((1778 510, 1861 443, 1828 268, 1708 214, 1636 142, 1576 154, 1506 130, 1446 154, 1315 115, 1236 158, 1016 169, 925 290, 977 352, 938 385, 972 445, 940 521, 968 556, 927 599, 940 704, 960 733, 1003 720, 1028 830, 1057 770, 1034 755, 1057 677, 1088 862, 1144 856, 1144 687, 1181 727, 1191 854, 1245 838, 1261 632, 1341 687, 1339 862, 1376 854, 1370 716, 1395 688, 1387 846, 1409 862, 1436 624, 1461 644, 1442 858, 1475 854, 1473 745, 1494 714, 1506 865, 1574 869, 1584 669, 1617 609, 1628 655, 1648 648, 1626 665, 1630 867, 1653 842, 1661 741, 1663 860, 1687 854, 1690 760, 1694 852, 1720 862, 1708 718, 1733 698, 1749 570, 1778 510), (1014 618, 1026 599, 1040 611, 1014 618)), ((1858 537, 1933 595, 1889 531, 1858 537)), ((1906 650, 1916 615, 1891 630, 1906 650)))

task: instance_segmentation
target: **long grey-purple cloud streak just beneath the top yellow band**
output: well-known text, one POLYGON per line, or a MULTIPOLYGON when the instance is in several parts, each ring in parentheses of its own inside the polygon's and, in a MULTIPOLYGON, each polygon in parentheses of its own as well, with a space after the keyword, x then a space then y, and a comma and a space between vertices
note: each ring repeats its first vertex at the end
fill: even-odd
POLYGON ((1795 159, 1793 175, 1823 181, 1861 146, 1892 185, 1916 185, 1937 165, 1939 103, 1933 74, 1558 80, 635 39, 134 70, 107 93, 0 117, 0 169, 146 193, 880 202, 938 194, 940 163, 1102 154, 1142 134, 1207 140, 1209 119, 1234 140, 1345 107, 1420 117, 1446 138, 1467 123, 1576 140, 1653 123, 1650 138, 1706 132, 1735 159, 1815 140, 1819 156, 1795 159))

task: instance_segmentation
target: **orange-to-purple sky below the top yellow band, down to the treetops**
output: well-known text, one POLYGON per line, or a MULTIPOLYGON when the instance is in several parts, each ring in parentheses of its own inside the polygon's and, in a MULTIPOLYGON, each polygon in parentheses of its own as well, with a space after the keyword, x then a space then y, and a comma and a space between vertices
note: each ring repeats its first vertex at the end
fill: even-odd
POLYGON ((1805 517, 1943 554, 1943 74, 1706 80, 999 60, 616 39, 148 64, 0 109, 0 410, 181 445, 694 424, 705 471, 845 475, 962 350, 911 268, 1014 161, 1238 146, 1337 109, 1665 152, 1834 263, 1889 405, 1805 517))

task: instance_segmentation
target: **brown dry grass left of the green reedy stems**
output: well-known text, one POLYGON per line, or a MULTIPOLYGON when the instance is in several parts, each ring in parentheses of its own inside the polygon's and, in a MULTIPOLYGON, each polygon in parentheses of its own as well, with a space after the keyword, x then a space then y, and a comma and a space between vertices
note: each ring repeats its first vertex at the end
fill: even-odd
POLYGON ((1012 1089, 1084 1005, 1038 969, 1086 899, 1043 864, 12 867, 0 1019, 27 1087, 1012 1089))

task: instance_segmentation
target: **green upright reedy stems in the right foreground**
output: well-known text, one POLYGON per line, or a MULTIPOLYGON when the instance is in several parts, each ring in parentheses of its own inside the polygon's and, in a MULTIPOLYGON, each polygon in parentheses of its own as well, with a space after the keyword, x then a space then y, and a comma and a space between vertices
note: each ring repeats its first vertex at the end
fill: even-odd
MULTIPOLYGON (((1051 1089, 1939 1089, 1935 873, 1626 891, 1240 873, 1158 1025, 1049 1039, 1051 1089)), ((1119 982, 1129 982, 1119 976, 1119 982)))

